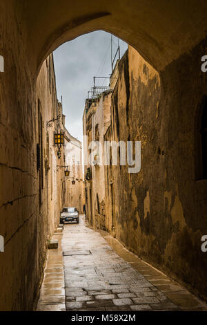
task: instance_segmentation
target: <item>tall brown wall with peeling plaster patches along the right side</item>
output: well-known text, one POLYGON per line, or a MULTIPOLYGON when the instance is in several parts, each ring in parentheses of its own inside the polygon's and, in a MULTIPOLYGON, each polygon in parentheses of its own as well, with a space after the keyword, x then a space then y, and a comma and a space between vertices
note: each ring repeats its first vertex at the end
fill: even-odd
POLYGON ((128 174, 125 166, 105 167, 106 228, 201 297, 207 291, 207 260, 201 252, 207 182, 195 180, 195 125, 207 89, 200 69, 205 46, 199 44, 160 75, 129 47, 119 62, 112 122, 105 135, 105 140, 141 140, 138 174, 128 174))

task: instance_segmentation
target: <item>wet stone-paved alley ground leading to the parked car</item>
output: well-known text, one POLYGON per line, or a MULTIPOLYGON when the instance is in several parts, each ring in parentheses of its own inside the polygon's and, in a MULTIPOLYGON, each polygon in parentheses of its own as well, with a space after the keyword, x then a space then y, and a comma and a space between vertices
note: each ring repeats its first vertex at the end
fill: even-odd
POLYGON ((65 225, 48 251, 37 310, 207 310, 206 304, 106 232, 65 225))

